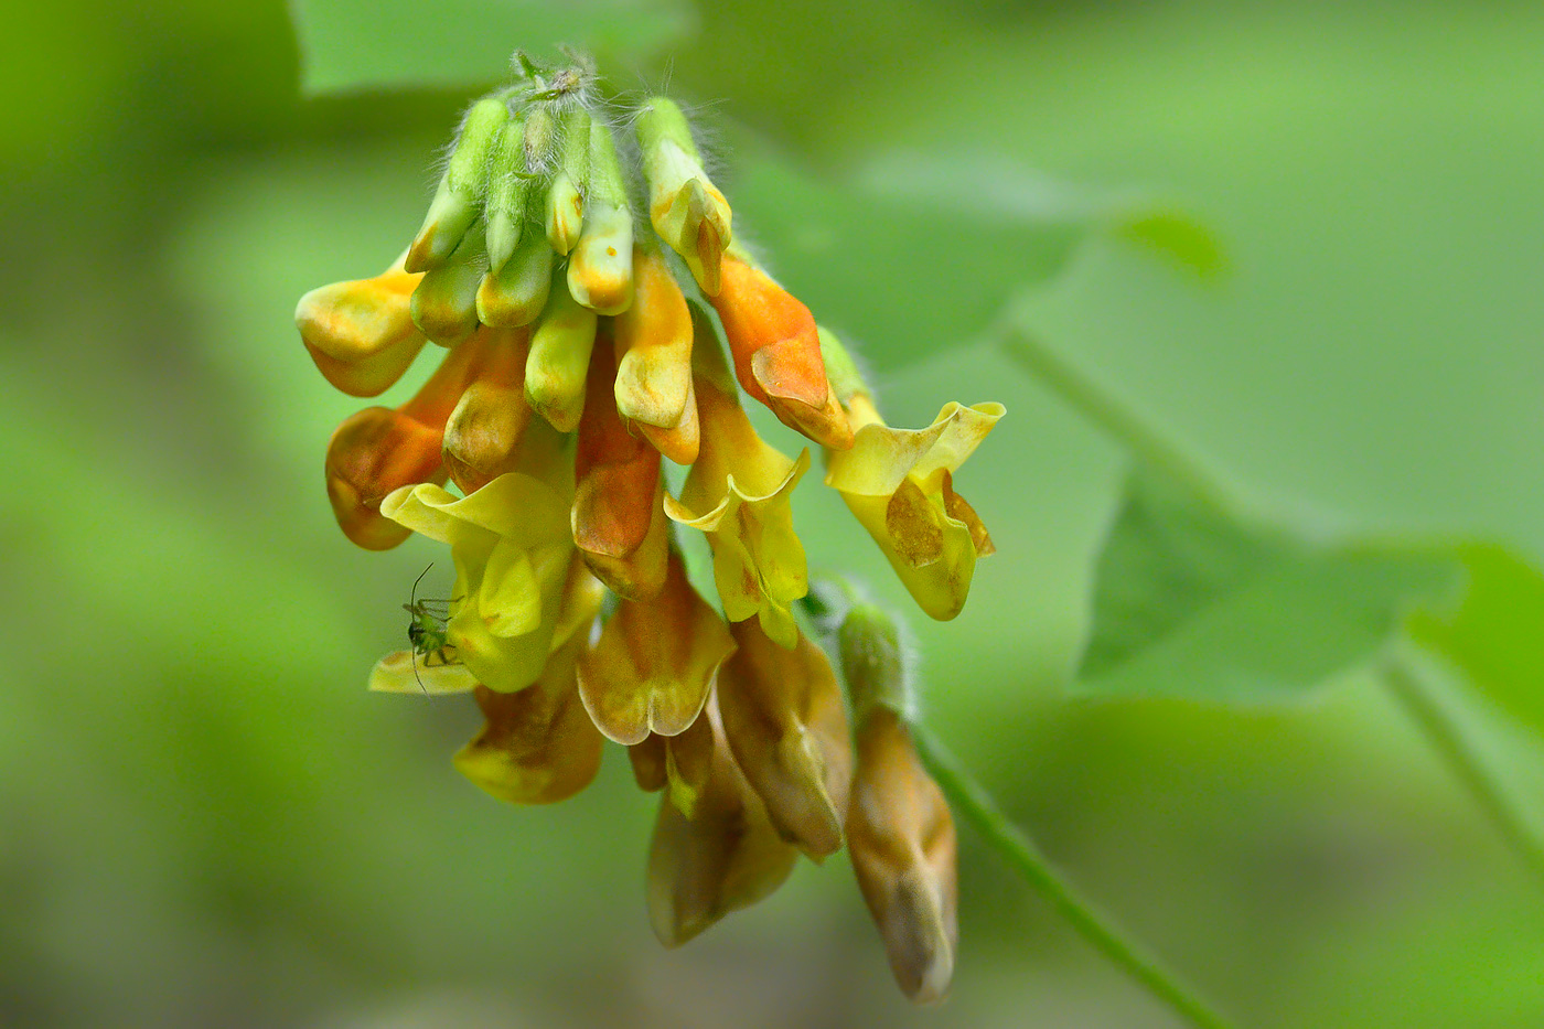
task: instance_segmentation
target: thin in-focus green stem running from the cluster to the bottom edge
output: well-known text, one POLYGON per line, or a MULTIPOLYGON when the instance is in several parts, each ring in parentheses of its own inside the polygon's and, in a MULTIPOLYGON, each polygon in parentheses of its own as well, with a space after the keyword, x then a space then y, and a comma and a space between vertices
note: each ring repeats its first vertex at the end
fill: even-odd
POLYGON ((1226 1029, 1227 1021, 1164 970, 1143 947, 1126 939, 1068 885, 1045 854, 997 808, 979 782, 920 725, 911 728, 922 760, 933 773, 950 807, 976 827, 987 844, 1007 861, 1073 929, 1132 978, 1147 987, 1192 1024, 1226 1029))

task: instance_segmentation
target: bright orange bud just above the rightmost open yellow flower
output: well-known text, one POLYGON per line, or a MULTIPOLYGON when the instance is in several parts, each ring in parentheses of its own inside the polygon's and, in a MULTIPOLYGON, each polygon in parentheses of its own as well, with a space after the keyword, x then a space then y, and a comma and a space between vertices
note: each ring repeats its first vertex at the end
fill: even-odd
MULTIPOLYGON (((783 425, 829 450, 852 447, 852 426, 826 380, 820 331, 809 307, 738 255, 723 261, 713 307, 741 388, 783 425)), ((431 337, 432 338, 432 337, 431 337)))

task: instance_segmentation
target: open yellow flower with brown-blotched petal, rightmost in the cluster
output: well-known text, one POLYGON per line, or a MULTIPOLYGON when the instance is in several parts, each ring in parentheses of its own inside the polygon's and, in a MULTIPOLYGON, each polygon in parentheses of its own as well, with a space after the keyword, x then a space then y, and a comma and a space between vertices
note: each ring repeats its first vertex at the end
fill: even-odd
POLYGON ((857 440, 831 454, 826 485, 841 493, 922 610, 954 618, 976 558, 993 552, 980 518, 954 493, 954 471, 1002 417, 1002 405, 951 402, 925 430, 889 428, 865 394, 854 394, 848 409, 857 440))

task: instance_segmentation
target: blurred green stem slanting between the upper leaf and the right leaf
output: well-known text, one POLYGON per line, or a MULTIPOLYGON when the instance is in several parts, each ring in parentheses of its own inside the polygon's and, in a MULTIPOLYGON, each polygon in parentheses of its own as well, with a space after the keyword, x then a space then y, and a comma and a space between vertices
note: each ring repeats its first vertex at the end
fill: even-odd
POLYGON ((1045 346, 1031 331, 1005 324, 1002 349, 1061 397, 1078 414, 1098 425, 1124 445, 1138 460, 1183 484, 1214 510, 1232 511, 1238 498, 1204 462, 1143 419, 1122 397, 1084 374, 1061 354, 1045 346))

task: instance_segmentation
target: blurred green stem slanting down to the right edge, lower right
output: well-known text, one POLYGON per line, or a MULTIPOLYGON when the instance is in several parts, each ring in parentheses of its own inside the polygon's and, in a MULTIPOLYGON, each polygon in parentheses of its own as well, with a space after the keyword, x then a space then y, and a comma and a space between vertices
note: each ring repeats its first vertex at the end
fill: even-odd
POLYGON ((1454 722, 1433 684, 1431 671, 1408 647, 1396 647, 1383 663, 1385 678, 1405 714, 1420 726, 1433 749, 1464 783, 1475 803, 1530 874, 1544 881, 1544 841, 1522 814, 1522 803, 1485 765, 1473 742, 1454 722))

